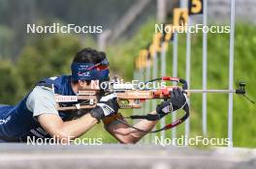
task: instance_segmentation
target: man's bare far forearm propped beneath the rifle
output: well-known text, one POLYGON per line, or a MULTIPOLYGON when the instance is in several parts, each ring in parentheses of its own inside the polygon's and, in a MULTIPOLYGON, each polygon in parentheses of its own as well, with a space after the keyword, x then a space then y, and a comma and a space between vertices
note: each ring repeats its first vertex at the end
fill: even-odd
MULTIPOLYGON (((153 111, 151 112, 151 114, 156 114, 156 112, 153 111)), ((124 119, 122 120, 126 122, 124 119)), ((150 131, 153 127, 155 127, 156 123, 157 121, 141 120, 136 125, 134 125, 134 127, 150 131)), ((128 127, 118 121, 113 121, 105 127, 112 134, 112 136, 114 136, 119 142, 124 144, 135 144, 147 133, 132 127, 128 127)))

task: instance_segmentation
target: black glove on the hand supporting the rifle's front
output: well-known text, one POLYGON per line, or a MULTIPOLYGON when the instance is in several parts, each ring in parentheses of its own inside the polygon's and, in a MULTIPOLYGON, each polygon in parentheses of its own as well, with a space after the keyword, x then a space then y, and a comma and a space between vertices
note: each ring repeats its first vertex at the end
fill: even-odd
POLYGON ((163 101, 156 107, 156 112, 161 115, 161 117, 182 108, 186 104, 186 97, 179 88, 174 88, 170 94, 171 99, 163 101))

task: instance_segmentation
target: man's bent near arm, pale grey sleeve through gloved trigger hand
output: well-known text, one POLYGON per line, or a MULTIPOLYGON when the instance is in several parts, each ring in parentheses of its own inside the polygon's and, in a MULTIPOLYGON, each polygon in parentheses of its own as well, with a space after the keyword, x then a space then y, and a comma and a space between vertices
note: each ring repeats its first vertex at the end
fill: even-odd
POLYGON ((118 104, 114 94, 103 97, 88 114, 77 120, 63 122, 55 107, 54 94, 51 89, 37 86, 27 99, 27 107, 33 112, 41 127, 48 134, 62 140, 80 137, 103 117, 117 112, 118 104))

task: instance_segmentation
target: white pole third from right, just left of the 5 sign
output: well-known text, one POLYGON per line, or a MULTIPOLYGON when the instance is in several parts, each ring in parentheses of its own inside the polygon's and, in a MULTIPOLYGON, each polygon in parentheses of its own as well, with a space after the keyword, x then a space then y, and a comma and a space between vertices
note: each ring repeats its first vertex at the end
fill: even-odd
MULTIPOLYGON (((187 18, 187 26, 190 26, 190 18, 187 18)), ((189 31, 186 34, 186 81, 187 81, 187 88, 190 88, 190 62, 191 62, 191 37, 189 31)), ((188 105, 190 104, 190 100, 187 99, 188 105)), ((185 135, 186 138, 189 138, 189 131, 190 131, 190 118, 188 117, 185 121, 185 135)), ((185 140, 185 145, 187 145, 187 139, 185 140)))

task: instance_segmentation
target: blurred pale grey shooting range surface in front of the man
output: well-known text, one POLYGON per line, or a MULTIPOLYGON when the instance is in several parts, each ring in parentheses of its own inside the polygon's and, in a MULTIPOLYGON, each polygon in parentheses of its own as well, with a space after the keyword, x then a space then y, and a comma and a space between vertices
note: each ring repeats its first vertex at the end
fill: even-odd
POLYGON ((256 150, 152 145, 27 146, 0 145, 0 168, 94 169, 94 168, 243 168, 254 169, 256 150))

